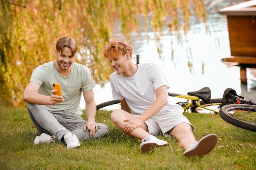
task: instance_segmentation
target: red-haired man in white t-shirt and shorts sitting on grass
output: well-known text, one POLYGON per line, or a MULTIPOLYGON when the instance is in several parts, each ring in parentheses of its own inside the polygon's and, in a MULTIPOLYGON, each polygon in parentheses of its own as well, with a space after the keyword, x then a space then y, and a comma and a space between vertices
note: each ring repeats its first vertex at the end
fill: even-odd
POLYGON ((213 150, 218 136, 208 134, 196 141, 195 127, 183 115, 183 108, 168 100, 170 87, 160 66, 134 64, 131 45, 121 41, 112 41, 103 55, 116 70, 110 76, 110 83, 113 98, 121 103, 121 109, 111 113, 111 120, 126 134, 140 139, 139 148, 143 152, 168 145, 154 136, 161 133, 178 139, 186 157, 213 150))

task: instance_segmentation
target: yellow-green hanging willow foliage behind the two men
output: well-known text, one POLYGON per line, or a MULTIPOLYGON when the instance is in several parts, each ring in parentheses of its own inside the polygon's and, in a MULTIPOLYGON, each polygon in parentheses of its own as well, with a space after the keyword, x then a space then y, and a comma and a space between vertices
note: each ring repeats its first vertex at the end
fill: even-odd
POLYGON ((205 22, 203 0, 1 0, 0 101, 25 105, 21 96, 32 71, 55 60, 55 44, 62 36, 77 40, 76 62, 87 65, 95 83, 104 85, 113 69, 102 50, 117 21, 129 42, 130 33, 140 29, 137 16, 143 16, 145 31, 150 24, 159 41, 164 27, 186 33, 192 12, 205 22))

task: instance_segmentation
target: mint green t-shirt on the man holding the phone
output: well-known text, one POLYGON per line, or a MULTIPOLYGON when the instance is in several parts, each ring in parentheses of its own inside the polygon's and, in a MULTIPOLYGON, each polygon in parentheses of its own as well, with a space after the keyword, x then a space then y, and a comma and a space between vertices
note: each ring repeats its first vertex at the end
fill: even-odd
POLYGON ((67 110, 81 116, 80 100, 82 92, 95 87, 90 70, 85 65, 72 63, 68 76, 61 75, 54 67, 54 61, 40 65, 34 69, 30 81, 40 85, 38 93, 51 96, 52 83, 61 84, 64 102, 55 105, 45 105, 49 111, 67 110))

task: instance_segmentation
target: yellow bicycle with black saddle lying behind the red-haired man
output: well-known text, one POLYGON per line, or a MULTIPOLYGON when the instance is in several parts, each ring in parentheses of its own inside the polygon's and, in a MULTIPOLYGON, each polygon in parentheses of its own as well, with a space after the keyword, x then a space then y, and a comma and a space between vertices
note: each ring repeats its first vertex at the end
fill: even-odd
MULTIPOLYGON (((222 98, 211 99, 211 89, 209 87, 204 87, 198 91, 188 92, 185 94, 177 94, 168 92, 168 96, 175 98, 185 98, 186 102, 178 102, 183 109, 184 113, 196 112, 196 113, 208 113, 208 114, 218 114, 220 107, 222 106, 222 98)), ((97 105, 97 110, 120 103, 119 100, 111 100, 97 105)))

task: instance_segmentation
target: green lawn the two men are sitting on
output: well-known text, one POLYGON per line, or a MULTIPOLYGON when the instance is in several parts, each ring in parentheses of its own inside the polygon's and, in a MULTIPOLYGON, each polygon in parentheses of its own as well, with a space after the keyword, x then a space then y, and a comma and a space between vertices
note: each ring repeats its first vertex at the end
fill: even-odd
MULTIPOLYGON (((226 123, 219 115, 185 114, 195 125, 195 136, 216 133, 216 148, 210 154, 187 158, 177 140, 158 135, 170 145, 147 153, 139 150, 140 141, 127 136, 110 120, 110 112, 98 111, 97 122, 110 129, 108 136, 81 142, 67 150, 65 143, 33 145, 36 128, 27 109, 0 106, 1 170, 255 170, 256 132, 226 123)), ((84 114, 85 116, 85 114, 84 114)), ((84 117, 84 119, 86 119, 84 117)))

